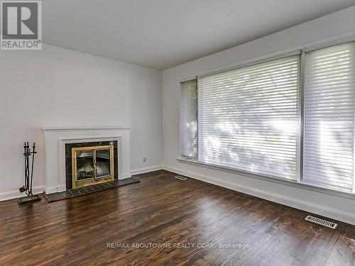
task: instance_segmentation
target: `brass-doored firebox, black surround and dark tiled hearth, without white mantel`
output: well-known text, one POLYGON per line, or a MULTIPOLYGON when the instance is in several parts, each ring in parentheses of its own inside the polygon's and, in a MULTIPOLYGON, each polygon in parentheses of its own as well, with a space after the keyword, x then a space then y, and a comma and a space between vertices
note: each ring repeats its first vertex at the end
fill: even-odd
MULTIPOLYGON (((60 192, 44 192, 48 202, 69 199, 106 189, 139 183, 132 177, 119 179, 120 140, 78 140, 65 143, 65 186, 60 192)), ((126 150, 127 151, 127 150, 126 150)), ((127 153, 128 154, 128 153, 127 153)), ((64 169, 64 168, 63 168, 64 169)))

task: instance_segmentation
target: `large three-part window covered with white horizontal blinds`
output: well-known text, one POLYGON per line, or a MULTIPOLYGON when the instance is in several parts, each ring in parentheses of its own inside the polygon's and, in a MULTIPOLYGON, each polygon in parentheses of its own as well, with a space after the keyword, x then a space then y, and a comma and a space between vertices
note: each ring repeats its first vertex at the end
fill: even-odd
POLYGON ((198 77, 181 84, 181 155, 352 192, 354 103, 354 43, 198 77))

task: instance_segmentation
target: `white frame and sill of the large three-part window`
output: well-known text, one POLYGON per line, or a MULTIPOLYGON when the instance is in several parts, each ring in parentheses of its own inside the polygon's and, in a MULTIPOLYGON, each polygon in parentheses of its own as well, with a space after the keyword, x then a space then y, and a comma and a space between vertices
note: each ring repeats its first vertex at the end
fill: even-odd
MULTIPOLYGON (((198 81, 198 79, 200 77, 206 77, 212 74, 219 74, 219 73, 223 73, 223 72, 227 72, 227 71, 231 71, 231 70, 239 70, 241 68, 244 67, 249 67, 249 66, 253 66, 253 65, 258 65, 261 64, 263 62, 269 62, 272 60, 277 60, 283 57, 290 57, 293 55, 300 55, 300 94, 299 94, 299 141, 298 141, 298 158, 297 158, 297 170, 299 171, 298 177, 296 180, 292 180, 292 179, 285 179, 285 178, 280 178, 280 177, 275 177, 275 176, 268 176, 267 174, 258 174, 256 172, 249 172, 246 170, 239 170, 233 167, 224 167, 221 165, 214 165, 213 163, 206 163, 206 162, 201 162, 200 160, 198 160, 198 156, 199 156, 199 150, 198 150, 198 133, 197 133, 197 157, 185 157, 185 156, 181 156, 181 153, 179 155, 179 157, 177 158, 178 162, 183 162, 183 163, 187 163, 190 165, 197 165, 200 167, 207 167, 209 169, 212 170, 219 170, 222 172, 229 172, 229 173, 233 173, 233 174, 240 174, 240 175, 244 175, 246 177, 251 177, 251 178, 256 178, 256 179, 263 179, 269 182, 276 182, 276 183, 280 183, 280 184, 287 184, 290 185, 292 187, 299 187, 299 188, 303 188, 303 189, 308 189, 308 190, 312 190, 315 192, 322 192, 322 193, 326 193, 326 194, 332 194, 335 196, 342 196, 344 198, 347 199, 355 199, 355 174, 354 174, 354 179, 353 179, 353 189, 351 192, 345 192, 345 191, 341 191, 341 190, 337 190, 337 189, 332 189, 329 187, 322 187, 320 185, 317 184, 309 184, 309 183, 305 183, 303 182, 303 154, 304 154, 304 131, 305 131, 305 62, 306 62, 306 56, 307 56, 307 52, 311 52, 314 50, 320 50, 323 48, 329 48, 332 46, 336 46, 336 45, 342 45, 344 43, 351 43, 355 41, 355 35, 349 35, 346 36, 344 38, 336 38, 334 40, 329 40, 326 42, 321 42, 321 43, 315 43, 315 44, 310 44, 310 45, 305 45, 302 48, 299 49, 295 49, 295 50, 291 50, 288 52, 279 52, 276 53, 274 55, 268 55, 265 57, 259 57, 256 58, 254 60, 249 60, 246 62, 241 62, 240 64, 237 65, 232 65, 230 67, 224 67, 224 68, 219 68, 217 70, 212 70, 209 72, 204 72, 203 74, 197 74, 194 78, 190 77, 189 79, 182 79, 180 82, 185 82, 187 80, 191 80, 191 79, 195 79, 198 81)), ((199 95, 198 95, 198 82, 197 82, 197 114, 198 114, 198 106, 199 106, 199 95)), ((197 116, 197 132, 199 128, 199 124, 198 124, 198 116, 197 116)), ((354 157, 354 165, 355 165, 355 157, 354 157)), ((354 168, 354 172, 355 172, 355 168, 354 168)))

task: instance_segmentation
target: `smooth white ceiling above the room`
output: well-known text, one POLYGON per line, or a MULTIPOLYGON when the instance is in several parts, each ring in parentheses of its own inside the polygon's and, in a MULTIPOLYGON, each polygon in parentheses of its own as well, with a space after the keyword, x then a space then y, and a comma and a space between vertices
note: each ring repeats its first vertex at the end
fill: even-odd
POLYGON ((43 43, 164 70, 355 0, 44 0, 43 43))

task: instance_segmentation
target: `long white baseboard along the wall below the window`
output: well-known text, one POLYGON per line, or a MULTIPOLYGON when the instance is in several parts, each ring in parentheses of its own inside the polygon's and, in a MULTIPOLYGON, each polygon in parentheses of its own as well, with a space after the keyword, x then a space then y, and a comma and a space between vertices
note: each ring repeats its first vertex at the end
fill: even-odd
POLYGON ((341 211, 339 209, 332 209, 327 206, 313 204, 312 202, 302 201, 302 199, 295 199, 293 197, 284 196, 281 194, 270 194, 269 192, 262 191, 261 189, 254 189, 252 187, 246 187, 241 184, 237 184, 235 182, 229 182, 226 180, 217 179, 216 177, 198 174, 196 172, 185 171, 185 170, 181 170, 181 169, 178 169, 175 167, 169 167, 169 166, 163 165, 163 169, 170 171, 170 172, 175 172, 177 174, 182 174, 187 177, 191 177, 193 179, 197 179, 197 180, 200 180, 203 182, 216 184, 219 187, 226 187, 227 189, 232 189, 237 192, 242 192, 245 194, 249 194, 251 196, 257 196, 258 198, 261 198, 261 199, 267 199, 269 201, 273 201, 278 204, 290 206, 295 209, 300 209, 302 211, 309 211, 313 214, 326 216, 326 217, 333 218, 338 221, 342 221, 344 223, 350 223, 352 225, 355 225, 355 214, 341 211))

